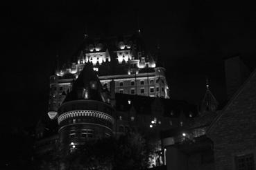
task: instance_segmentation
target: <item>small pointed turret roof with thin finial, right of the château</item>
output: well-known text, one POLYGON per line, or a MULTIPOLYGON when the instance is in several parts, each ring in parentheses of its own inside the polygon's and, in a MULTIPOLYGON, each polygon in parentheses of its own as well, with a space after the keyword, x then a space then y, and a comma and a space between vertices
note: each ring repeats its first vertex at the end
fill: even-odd
POLYGON ((208 77, 206 77, 206 92, 201 104, 201 112, 205 111, 216 111, 219 106, 219 102, 216 100, 212 92, 210 91, 210 84, 208 77))

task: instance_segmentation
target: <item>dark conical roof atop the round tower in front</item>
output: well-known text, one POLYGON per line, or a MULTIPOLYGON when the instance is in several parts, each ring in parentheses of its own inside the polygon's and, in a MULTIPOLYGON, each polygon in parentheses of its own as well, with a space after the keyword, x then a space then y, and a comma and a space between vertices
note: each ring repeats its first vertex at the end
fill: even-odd
POLYGON ((74 100, 107 101, 103 95, 101 82, 90 63, 85 64, 76 82, 74 82, 73 89, 67 94, 63 103, 74 100))

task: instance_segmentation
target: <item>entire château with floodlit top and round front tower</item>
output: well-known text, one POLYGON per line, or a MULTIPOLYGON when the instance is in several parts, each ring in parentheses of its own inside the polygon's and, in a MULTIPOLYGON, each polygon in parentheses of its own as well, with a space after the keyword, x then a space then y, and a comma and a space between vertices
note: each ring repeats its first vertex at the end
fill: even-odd
POLYGON ((185 126, 197 107, 170 99, 160 55, 146 52, 140 32, 91 39, 50 77, 49 117, 37 126, 37 159, 87 140, 138 132, 157 144, 152 166, 164 164, 160 131, 185 126), (58 135, 57 135, 58 134, 58 135))

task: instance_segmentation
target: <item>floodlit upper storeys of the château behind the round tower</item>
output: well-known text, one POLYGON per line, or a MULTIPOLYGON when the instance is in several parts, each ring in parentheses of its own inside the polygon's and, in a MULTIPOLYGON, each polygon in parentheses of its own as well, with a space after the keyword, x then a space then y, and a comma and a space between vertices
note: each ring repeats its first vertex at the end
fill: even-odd
POLYGON ((71 60, 61 68, 57 64, 50 77, 49 111, 58 110, 87 63, 93 65, 102 86, 110 90, 110 82, 114 81, 115 93, 169 98, 165 68, 146 53, 139 32, 108 39, 85 37, 71 60))

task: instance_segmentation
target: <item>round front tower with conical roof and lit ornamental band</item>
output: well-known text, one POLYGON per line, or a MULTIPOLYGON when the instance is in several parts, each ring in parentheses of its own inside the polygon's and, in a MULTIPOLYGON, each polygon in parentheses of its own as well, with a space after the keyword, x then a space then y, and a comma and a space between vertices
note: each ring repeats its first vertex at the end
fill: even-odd
POLYGON ((112 135, 114 108, 92 64, 85 64, 72 90, 58 108, 60 149, 69 153, 87 140, 112 135))

